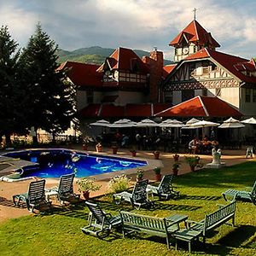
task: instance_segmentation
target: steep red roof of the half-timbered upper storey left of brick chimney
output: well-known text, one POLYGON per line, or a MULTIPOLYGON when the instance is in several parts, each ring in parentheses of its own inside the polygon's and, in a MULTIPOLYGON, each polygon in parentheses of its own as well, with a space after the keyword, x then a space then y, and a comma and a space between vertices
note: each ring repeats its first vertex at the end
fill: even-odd
MULTIPOLYGON (((132 49, 119 47, 118 49, 114 50, 113 54, 110 55, 106 61, 108 61, 108 65, 111 67, 111 69, 118 70, 131 70, 132 65, 137 63, 138 71, 140 73, 149 73, 147 64, 145 64, 132 49)), ((102 66, 97 69, 97 71, 102 72, 105 68, 105 64, 106 62, 103 63, 102 66)))

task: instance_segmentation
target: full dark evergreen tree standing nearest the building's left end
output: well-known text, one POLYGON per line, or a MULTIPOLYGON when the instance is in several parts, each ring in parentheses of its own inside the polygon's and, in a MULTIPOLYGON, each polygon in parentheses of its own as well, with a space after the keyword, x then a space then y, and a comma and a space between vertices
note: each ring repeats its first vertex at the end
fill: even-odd
POLYGON ((20 56, 29 124, 52 133, 66 130, 76 113, 75 88, 57 69, 57 49, 38 25, 20 56))

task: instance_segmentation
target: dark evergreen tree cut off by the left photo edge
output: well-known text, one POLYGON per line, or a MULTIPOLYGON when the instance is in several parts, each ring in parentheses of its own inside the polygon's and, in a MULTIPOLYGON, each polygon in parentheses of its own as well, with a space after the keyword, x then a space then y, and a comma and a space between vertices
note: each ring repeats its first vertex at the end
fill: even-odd
POLYGON ((24 128, 22 98, 24 91, 18 79, 18 44, 7 26, 0 28, 0 137, 10 143, 10 134, 24 128))

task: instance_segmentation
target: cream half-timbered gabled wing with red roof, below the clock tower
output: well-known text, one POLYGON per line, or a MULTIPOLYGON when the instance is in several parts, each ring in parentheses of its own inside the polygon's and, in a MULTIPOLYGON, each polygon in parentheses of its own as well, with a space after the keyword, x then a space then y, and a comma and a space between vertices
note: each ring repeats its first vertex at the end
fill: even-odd
MULTIPOLYGON (((193 22, 198 26, 197 21, 193 22)), ((179 38, 183 34, 180 33, 179 38)), ((175 41, 177 39, 172 40, 175 41)), ((177 51, 179 46, 172 45, 177 51)), ((214 45, 217 47, 217 44, 214 45)), ((177 60, 176 54, 174 58, 177 60)), ((238 56, 224 54, 216 51, 214 47, 201 48, 193 54, 189 51, 167 75, 163 85, 164 101, 172 101, 172 104, 176 105, 194 96, 218 96, 241 113, 255 115, 255 72, 256 65, 253 59, 248 61, 238 56)))

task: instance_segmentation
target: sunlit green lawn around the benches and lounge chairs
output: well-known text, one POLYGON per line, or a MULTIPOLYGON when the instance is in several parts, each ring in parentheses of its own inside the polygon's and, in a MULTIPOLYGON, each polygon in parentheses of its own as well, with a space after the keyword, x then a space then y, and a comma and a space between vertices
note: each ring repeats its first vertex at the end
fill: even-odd
MULTIPOLYGON (((201 220, 206 213, 217 209, 225 201, 221 193, 226 189, 243 189, 255 180, 256 162, 225 167, 221 170, 203 170, 177 177, 177 200, 157 201, 154 211, 132 210, 129 204, 116 206, 111 196, 96 199, 103 210, 116 214, 119 210, 140 212, 156 217, 173 213, 189 215, 201 220)), ((0 225, 0 254, 3 255, 188 255, 187 244, 178 251, 166 247, 166 240, 137 234, 123 239, 114 232, 104 240, 84 235, 80 228, 87 224, 88 210, 83 204, 54 209, 44 215, 9 219, 0 225)), ((253 203, 238 201, 236 227, 222 225, 207 238, 204 251, 201 244, 192 245, 194 254, 256 255, 256 207, 253 203)))

